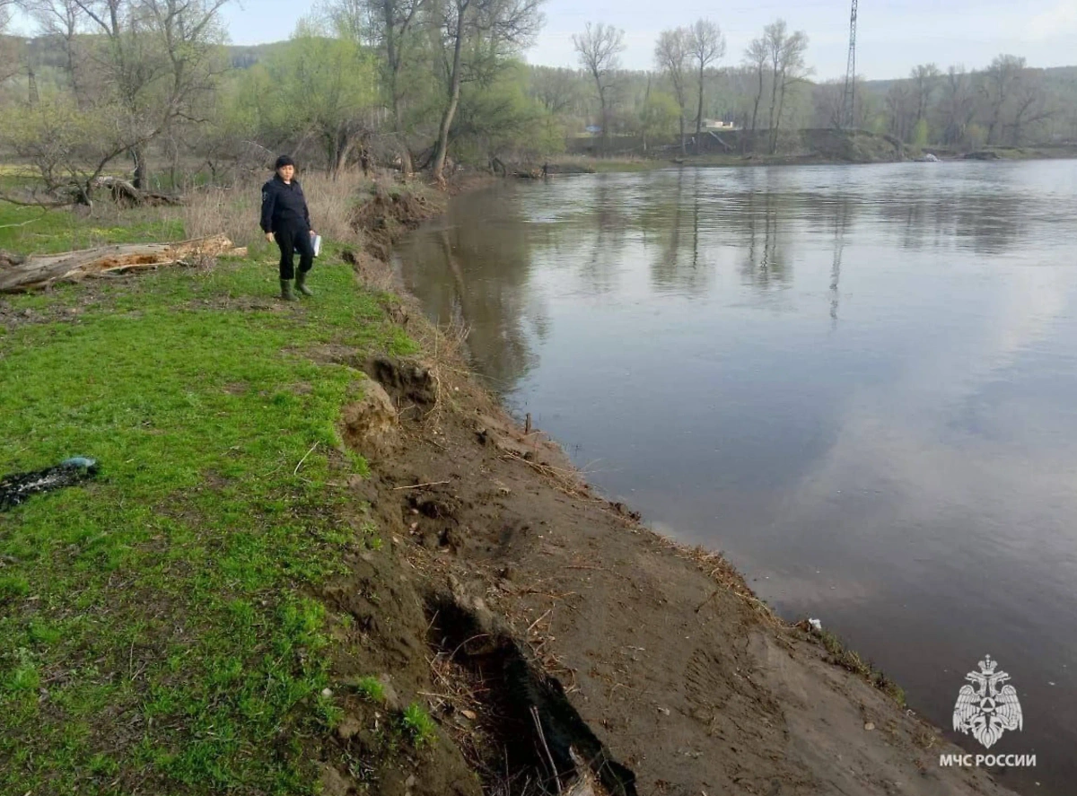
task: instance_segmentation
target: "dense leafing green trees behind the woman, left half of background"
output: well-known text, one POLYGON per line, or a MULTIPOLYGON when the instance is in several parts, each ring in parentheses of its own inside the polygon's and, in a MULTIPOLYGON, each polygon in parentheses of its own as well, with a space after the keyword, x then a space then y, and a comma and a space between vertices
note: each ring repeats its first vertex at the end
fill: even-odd
POLYGON ((48 191, 125 163, 140 188, 278 151, 330 172, 418 158, 440 179, 450 153, 549 149, 521 60, 542 0, 326 0, 249 68, 228 1, 24 0, 38 36, 5 40, 0 146, 48 191))

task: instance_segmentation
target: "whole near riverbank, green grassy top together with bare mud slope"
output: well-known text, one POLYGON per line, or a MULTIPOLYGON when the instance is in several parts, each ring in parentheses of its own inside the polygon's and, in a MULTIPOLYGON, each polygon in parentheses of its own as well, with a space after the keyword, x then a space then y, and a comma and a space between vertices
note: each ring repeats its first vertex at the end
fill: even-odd
POLYGON ((0 298, 3 472, 102 463, 0 514, 0 793, 1007 793, 515 427, 386 290, 436 211, 0 298))

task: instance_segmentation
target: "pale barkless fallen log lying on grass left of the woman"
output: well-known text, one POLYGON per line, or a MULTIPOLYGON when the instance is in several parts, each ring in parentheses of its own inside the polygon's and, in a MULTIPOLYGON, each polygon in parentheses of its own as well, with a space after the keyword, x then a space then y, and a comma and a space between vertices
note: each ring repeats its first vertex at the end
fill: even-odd
POLYGON ((179 243, 123 243, 20 257, 0 252, 0 293, 22 293, 116 271, 157 268, 220 254, 240 254, 224 235, 179 243))

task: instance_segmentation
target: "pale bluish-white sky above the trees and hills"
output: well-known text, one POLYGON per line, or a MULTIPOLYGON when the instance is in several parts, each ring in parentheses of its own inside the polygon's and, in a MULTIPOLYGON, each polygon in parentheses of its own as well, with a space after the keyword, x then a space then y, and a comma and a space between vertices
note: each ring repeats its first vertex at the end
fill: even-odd
MULTIPOLYGON (((309 9, 296 0, 238 1, 225 11, 236 44, 286 39, 309 9)), ((808 62, 819 78, 845 72, 848 0, 547 0, 545 16, 528 53, 532 64, 576 66, 572 34, 604 22, 625 30, 624 66, 649 69, 658 31, 702 16, 725 31, 724 62, 735 64, 764 25, 784 17, 808 33, 808 62)), ((950 0, 941 10, 932 0, 861 0, 858 30, 857 72, 868 79, 904 76, 927 61, 980 67, 999 53, 1023 55, 1035 67, 1077 64, 1077 0, 950 0)))

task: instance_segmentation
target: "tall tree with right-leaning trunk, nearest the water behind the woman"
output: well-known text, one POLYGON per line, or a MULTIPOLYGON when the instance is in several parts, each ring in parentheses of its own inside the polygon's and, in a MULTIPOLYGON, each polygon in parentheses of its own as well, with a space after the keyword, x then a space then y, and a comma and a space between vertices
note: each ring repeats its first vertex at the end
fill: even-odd
POLYGON ((496 64, 531 42, 542 24, 543 0, 451 0, 440 13, 440 29, 451 48, 448 60, 448 97, 442 112, 434 148, 434 179, 445 181, 445 159, 449 132, 460 106, 464 72, 477 74, 484 66, 496 64), (472 45, 474 58, 464 59, 464 45, 472 45))

